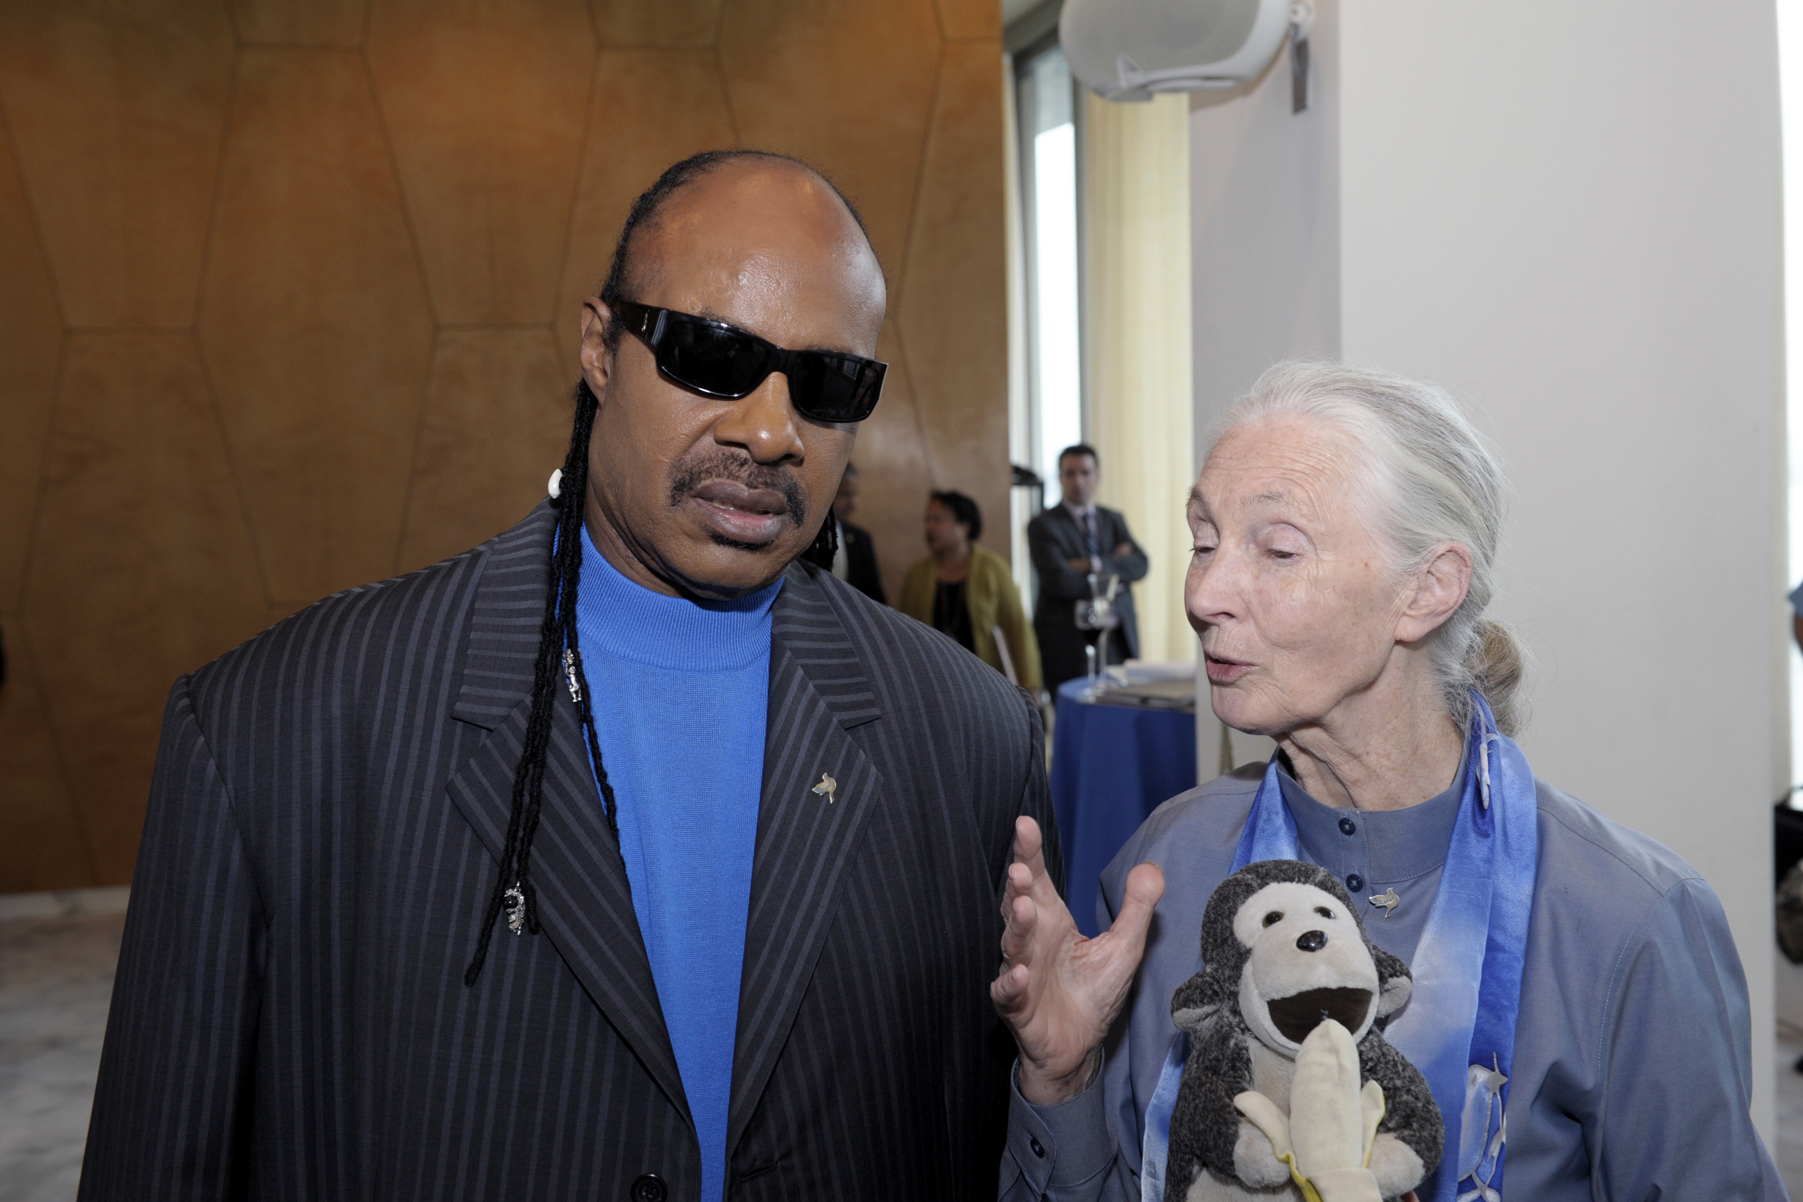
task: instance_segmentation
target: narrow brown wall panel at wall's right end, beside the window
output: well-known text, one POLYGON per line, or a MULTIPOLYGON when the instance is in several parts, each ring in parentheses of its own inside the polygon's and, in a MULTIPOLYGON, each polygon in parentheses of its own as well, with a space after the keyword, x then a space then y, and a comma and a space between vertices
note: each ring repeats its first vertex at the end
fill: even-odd
POLYGON ((1010 553, 1001 47, 945 49, 898 323, 941 488, 975 497, 1010 553), (952 303, 956 299, 956 303, 952 303))

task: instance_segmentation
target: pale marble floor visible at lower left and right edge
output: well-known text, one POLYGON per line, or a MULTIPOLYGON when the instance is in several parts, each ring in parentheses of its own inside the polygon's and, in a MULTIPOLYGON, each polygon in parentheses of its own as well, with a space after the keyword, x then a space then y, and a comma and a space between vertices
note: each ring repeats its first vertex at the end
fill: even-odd
MULTIPOLYGON (((0 1202, 69 1202, 81 1173, 124 890, 0 897, 0 1202)), ((1803 1202, 1803 1033, 1781 1033, 1778 1146, 1803 1202)))

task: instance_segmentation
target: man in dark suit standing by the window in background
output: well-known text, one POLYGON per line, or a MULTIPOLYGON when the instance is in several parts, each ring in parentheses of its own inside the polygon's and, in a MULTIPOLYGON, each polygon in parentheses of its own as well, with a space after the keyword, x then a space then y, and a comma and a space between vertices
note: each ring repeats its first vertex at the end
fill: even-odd
POLYGON ((1076 602, 1089 600, 1089 577, 1096 591, 1107 589, 1109 577, 1120 577, 1114 615, 1120 625, 1109 631, 1109 663, 1125 663, 1139 654, 1139 625, 1132 611, 1134 580, 1143 580, 1145 551, 1127 532, 1127 519, 1094 503, 1100 461, 1096 449, 1076 443, 1058 452, 1058 487, 1064 499, 1026 526, 1033 571, 1039 573, 1039 602, 1033 606, 1033 633, 1046 688, 1087 670, 1084 647, 1096 642, 1093 631, 1076 629, 1076 602))

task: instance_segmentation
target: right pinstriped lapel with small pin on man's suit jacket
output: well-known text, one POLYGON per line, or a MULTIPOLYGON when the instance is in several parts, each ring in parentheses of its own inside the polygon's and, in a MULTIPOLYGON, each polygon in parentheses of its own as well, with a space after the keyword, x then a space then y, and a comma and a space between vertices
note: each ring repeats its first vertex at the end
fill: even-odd
POLYGON ((864 825, 883 802, 880 773, 846 733, 882 712, 838 615, 802 568, 790 568, 772 627, 728 1157, 788 1042, 864 825), (822 775, 831 793, 815 793, 822 775))

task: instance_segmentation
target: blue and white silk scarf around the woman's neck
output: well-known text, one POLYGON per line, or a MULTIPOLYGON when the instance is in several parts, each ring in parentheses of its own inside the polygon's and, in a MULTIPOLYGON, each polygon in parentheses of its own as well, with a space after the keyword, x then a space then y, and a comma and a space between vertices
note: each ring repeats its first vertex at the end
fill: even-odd
MULTIPOLYGON (((1534 773, 1496 730, 1475 692, 1459 820, 1428 924, 1410 966, 1414 991, 1385 1038, 1433 1090, 1446 1119, 1439 1168, 1415 1188, 1423 1202, 1500 1202, 1507 1141, 1504 1110, 1522 1007, 1522 961, 1534 905, 1538 802, 1534 773)), ((1258 860, 1296 860, 1296 820, 1284 806, 1277 760, 1264 773, 1233 854, 1233 872, 1258 860)), ((1141 1202, 1163 1202, 1170 1112, 1190 1036, 1177 1033, 1145 1110, 1141 1202)), ((1181 1202, 1172 1198, 1170 1202, 1181 1202)))

